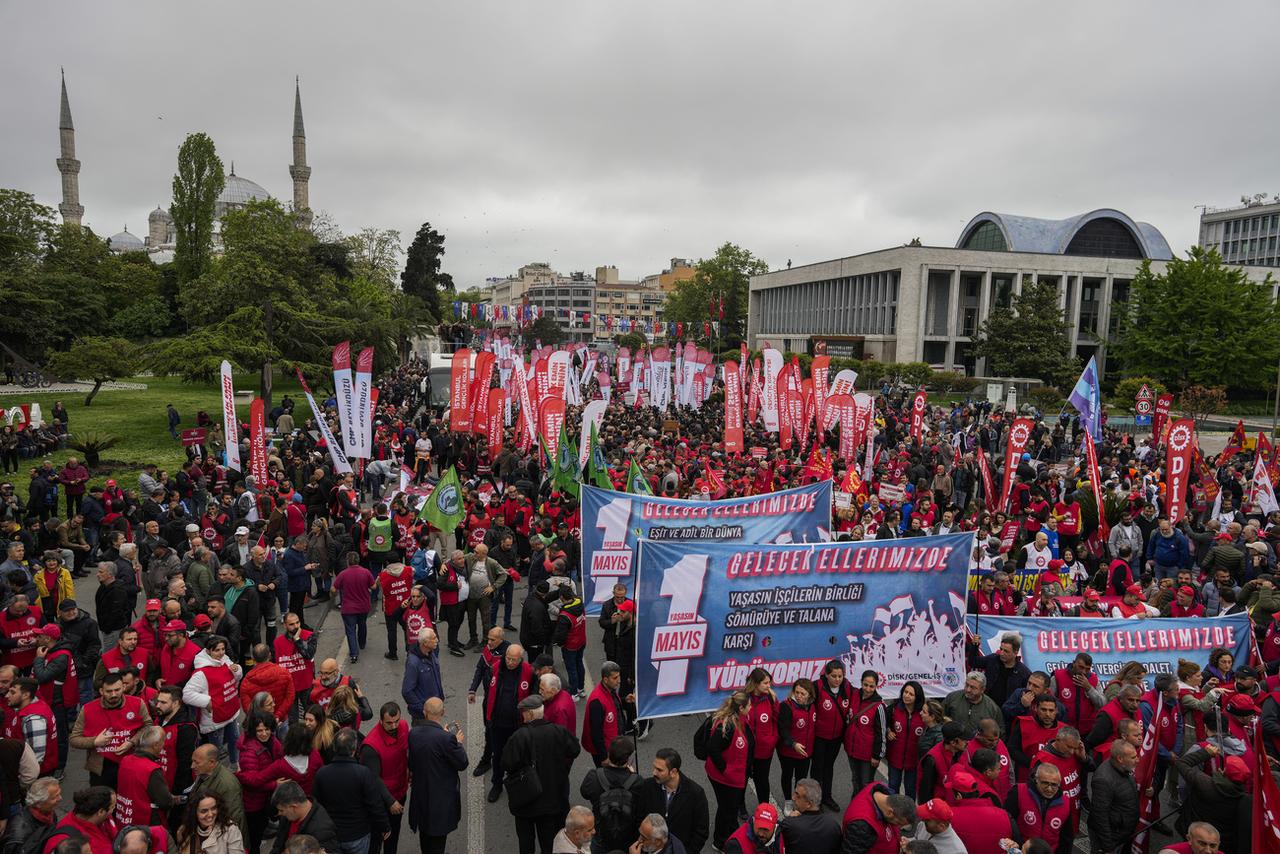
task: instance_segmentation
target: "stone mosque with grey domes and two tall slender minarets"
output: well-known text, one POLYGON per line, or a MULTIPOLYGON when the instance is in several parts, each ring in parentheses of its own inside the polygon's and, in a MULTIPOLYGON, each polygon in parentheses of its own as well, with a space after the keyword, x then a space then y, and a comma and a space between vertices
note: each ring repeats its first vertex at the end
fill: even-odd
MULTIPOLYGON (((81 225, 84 218, 84 207, 79 201, 79 170, 81 161, 76 159, 76 125, 72 122, 70 100, 67 97, 67 77, 63 76, 61 109, 59 113, 58 133, 61 147, 61 156, 58 157, 58 172, 61 173, 63 201, 58 211, 63 216, 65 225, 81 225)), ((300 228, 311 225, 311 201, 308 195, 308 182, 311 179, 311 166, 307 165, 307 134, 302 124, 302 91, 298 81, 293 85, 293 163, 289 164, 289 177, 293 179, 293 210, 297 211, 300 228)), ((236 164, 232 163, 225 178, 223 192, 218 195, 214 209, 214 248, 221 246, 219 238, 220 223, 229 210, 243 207, 253 198, 270 198, 271 193, 257 182, 236 174, 236 164)), ((128 225, 124 230, 108 238, 108 245, 113 252, 146 252, 152 261, 163 264, 173 260, 173 251, 177 243, 173 216, 164 207, 156 206, 147 215, 146 236, 132 233, 128 225)))

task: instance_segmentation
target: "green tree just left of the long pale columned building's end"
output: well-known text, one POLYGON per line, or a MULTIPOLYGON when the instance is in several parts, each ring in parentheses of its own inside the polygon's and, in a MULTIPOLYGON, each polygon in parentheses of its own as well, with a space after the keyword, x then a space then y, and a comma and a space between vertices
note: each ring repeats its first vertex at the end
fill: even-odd
POLYGON ((676 283, 676 288, 667 294, 662 318, 695 324, 696 329, 708 320, 719 321, 721 342, 726 347, 736 347, 745 332, 748 284, 753 275, 768 271, 769 265, 763 259, 740 246, 724 243, 716 250, 716 255, 698 261, 691 279, 676 283), (719 316, 721 300, 724 301, 723 320, 719 316))

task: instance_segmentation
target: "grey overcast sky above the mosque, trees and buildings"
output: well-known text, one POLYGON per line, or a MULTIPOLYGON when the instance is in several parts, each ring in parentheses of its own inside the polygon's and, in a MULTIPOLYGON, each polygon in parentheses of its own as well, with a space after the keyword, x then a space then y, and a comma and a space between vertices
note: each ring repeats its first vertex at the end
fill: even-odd
POLYGON ((1280 4, 457 0, 0 5, 0 186, 146 233, 183 137, 288 201, 424 220, 460 286, 531 260, 623 278, 732 241, 771 266, 954 245, 983 210, 1117 207, 1176 252, 1196 205, 1280 192, 1280 4))

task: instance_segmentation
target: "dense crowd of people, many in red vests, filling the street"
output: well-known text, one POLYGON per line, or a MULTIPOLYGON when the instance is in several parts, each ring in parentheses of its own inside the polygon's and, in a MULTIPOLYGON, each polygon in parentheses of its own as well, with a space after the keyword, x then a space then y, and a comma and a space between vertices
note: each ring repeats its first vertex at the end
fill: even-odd
MULTIPOLYGON (((932 407, 913 439, 909 401, 886 389, 872 471, 850 479, 844 461, 815 466, 820 451, 783 448, 759 425, 746 444, 762 455, 726 455, 719 391, 663 414, 616 387, 599 435, 618 489, 632 462, 654 494, 678 498, 832 476, 854 484, 832 520, 840 539, 977 531, 973 613, 1247 611, 1261 649, 1260 662, 1215 650, 1100 680, 1088 654, 1030 671, 1011 634, 991 654, 972 644, 964 686, 945 697, 916 682, 882 697, 876 672, 838 658, 786 686, 756 670, 691 743, 666 744, 662 725, 636 720, 627 589, 585 613, 572 490, 512 431, 497 455, 451 431, 425 365, 389 371, 379 391, 372 458, 355 474, 334 472, 310 414, 284 398, 268 416, 265 483, 227 469, 212 443, 173 471, 145 466, 136 485, 93 483, 74 458, 31 472, 38 501, 37 485, 24 501, 0 484, 0 850, 392 854, 407 817, 424 853, 444 851, 462 844, 471 773, 488 776, 490 804, 506 800, 521 854, 1066 854, 1083 837, 1121 851, 1144 828, 1134 767, 1157 711, 1167 743, 1151 789, 1167 790, 1162 839, 1183 840, 1165 848, 1249 849, 1252 768, 1270 762, 1251 732, 1280 744, 1280 516, 1249 502, 1252 455, 1207 457, 1212 483, 1197 480, 1192 512, 1171 525, 1157 443, 1106 429, 1097 451, 1116 517, 1101 536, 1068 416, 1037 416, 1005 507, 978 457, 1000 484, 1012 414, 989 405, 932 407), (451 467, 466 513, 442 531, 416 502, 451 467), (902 498, 882 501, 882 487, 902 498), (90 575, 92 603, 76 592, 90 575), (398 698, 367 697, 317 656, 307 606, 325 600, 348 665, 369 621, 384 624, 383 656, 397 662, 385 666, 403 661, 398 698), (467 685, 445 684, 442 652, 475 658, 467 685), (453 723, 463 703, 481 705, 483 732, 453 723), (636 743, 654 734, 640 767, 636 743), (584 753, 593 768, 571 780, 584 753), (68 802, 73 761, 90 786, 68 802)), ((567 423, 577 417, 570 407, 567 423)))

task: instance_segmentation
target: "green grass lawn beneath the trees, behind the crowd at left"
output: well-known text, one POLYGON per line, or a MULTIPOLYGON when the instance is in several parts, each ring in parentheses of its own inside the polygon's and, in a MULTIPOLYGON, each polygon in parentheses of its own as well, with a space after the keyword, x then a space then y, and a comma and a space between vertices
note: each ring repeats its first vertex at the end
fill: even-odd
MULTIPOLYGON (((123 440, 102 453, 102 465, 99 471, 93 471, 91 484, 106 483, 109 478, 120 481, 124 489, 136 489, 138 484, 137 472, 142 463, 155 462, 161 469, 172 472, 175 466, 186 462, 187 453, 182 443, 169 435, 169 420, 165 415, 165 406, 173 403, 182 416, 178 429, 196 426, 196 412, 205 410, 221 424, 221 393, 216 383, 183 383, 173 376, 137 376, 129 383, 145 383, 146 391, 101 391, 93 398, 93 403, 84 406, 84 394, 13 394, 0 399, 6 407, 18 403, 40 403, 40 411, 45 420, 49 420, 54 403, 63 402, 70 420, 70 431, 74 433, 110 433, 123 440)), ((257 391, 257 374, 236 375, 236 412, 241 421, 248 420, 250 397, 239 392, 257 391)), ((298 380, 289 375, 276 375, 271 388, 274 402, 279 402, 284 394, 292 394, 300 408, 294 410, 298 423, 311 417, 306 412, 306 401, 302 398, 302 389, 298 380)), ((51 456, 54 465, 61 467, 67 457, 77 456, 83 461, 83 455, 70 448, 64 448, 51 456)), ((26 494, 27 469, 38 460, 20 461, 24 469, 13 478, 14 485, 20 494, 26 494)))

